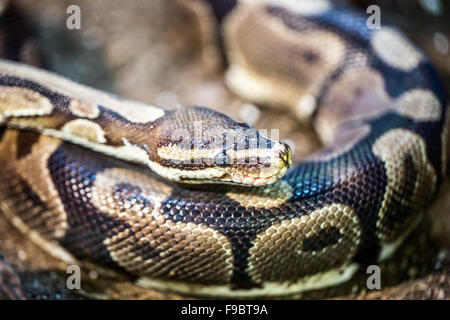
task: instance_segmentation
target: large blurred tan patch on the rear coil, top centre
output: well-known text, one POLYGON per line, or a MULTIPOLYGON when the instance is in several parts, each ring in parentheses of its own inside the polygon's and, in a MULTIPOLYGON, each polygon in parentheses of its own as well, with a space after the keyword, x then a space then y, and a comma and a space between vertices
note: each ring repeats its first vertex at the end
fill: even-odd
POLYGON ((293 109, 305 94, 318 93, 346 51, 338 35, 290 29, 258 3, 241 4, 226 19, 224 32, 230 88, 252 102, 293 109))

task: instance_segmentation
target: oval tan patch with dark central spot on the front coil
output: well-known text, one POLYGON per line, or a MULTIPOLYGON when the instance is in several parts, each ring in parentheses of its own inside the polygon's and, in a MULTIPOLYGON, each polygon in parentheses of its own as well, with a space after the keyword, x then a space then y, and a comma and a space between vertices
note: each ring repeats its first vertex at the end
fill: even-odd
MULTIPOLYGON (((284 220, 259 233, 250 249, 248 274, 256 283, 292 282, 349 264, 360 243, 359 218, 344 204, 332 204, 300 218, 284 220), (334 244, 305 250, 305 241, 335 228, 334 244)), ((321 240, 319 240, 321 239, 321 240)), ((307 249, 307 248, 306 248, 307 249)))

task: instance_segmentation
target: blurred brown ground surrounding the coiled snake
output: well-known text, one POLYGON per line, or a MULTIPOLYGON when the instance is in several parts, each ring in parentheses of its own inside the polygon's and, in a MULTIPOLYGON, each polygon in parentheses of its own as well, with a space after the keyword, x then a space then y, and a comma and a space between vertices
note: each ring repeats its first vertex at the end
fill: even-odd
MULTIPOLYGON (((449 92, 449 1, 347 2, 363 11, 372 4, 380 6, 382 21, 398 26, 426 52, 449 92)), ((200 25, 192 12, 178 1, 17 0, 13 3, 36 33, 38 48, 50 70, 92 87, 168 109, 177 105, 206 105, 239 121, 250 119, 249 122, 258 128, 279 128, 280 138, 294 146, 294 161, 320 147, 314 132, 300 126, 291 115, 245 103, 226 88, 224 64, 220 60, 205 61, 200 25), (77 4, 81 9, 80 30, 66 28, 66 10, 71 4, 77 4)), ((317 297, 448 299, 448 179, 429 216, 431 239, 423 234, 413 235, 419 243, 403 249, 408 258, 382 269, 392 269, 392 274, 383 279, 386 289, 365 292, 361 280, 342 291, 321 293, 317 297)), ((5 256, 19 271, 30 297, 83 298, 65 289, 64 273, 61 272, 64 265, 36 250, 1 215, 0 243, 5 256)), ((111 284, 109 279, 99 284, 94 281, 97 277, 95 273, 89 274, 86 283, 99 292, 98 297, 107 291, 108 295, 127 292, 129 298, 179 298, 142 291, 125 283, 111 284)))

